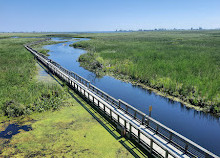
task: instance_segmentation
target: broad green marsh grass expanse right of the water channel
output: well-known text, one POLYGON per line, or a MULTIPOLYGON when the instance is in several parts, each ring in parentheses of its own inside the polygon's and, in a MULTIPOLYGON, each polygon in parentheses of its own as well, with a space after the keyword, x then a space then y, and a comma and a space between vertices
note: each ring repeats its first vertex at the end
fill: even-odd
MULTIPOLYGON (((220 106, 219 31, 80 34, 81 65, 125 75, 212 113, 220 106), (99 67, 94 65, 101 65, 99 67), (208 108, 207 108, 208 107, 208 108)), ((102 74, 102 73, 101 73, 102 74)))

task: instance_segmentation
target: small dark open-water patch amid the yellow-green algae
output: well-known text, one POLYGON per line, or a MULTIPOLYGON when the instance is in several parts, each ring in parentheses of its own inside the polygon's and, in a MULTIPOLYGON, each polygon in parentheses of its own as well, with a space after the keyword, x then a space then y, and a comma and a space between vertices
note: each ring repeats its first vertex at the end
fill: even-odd
POLYGON ((11 139, 12 136, 20 133, 19 130, 30 131, 32 130, 31 126, 24 125, 19 126, 17 124, 9 124, 8 127, 4 131, 0 131, 0 138, 11 139))

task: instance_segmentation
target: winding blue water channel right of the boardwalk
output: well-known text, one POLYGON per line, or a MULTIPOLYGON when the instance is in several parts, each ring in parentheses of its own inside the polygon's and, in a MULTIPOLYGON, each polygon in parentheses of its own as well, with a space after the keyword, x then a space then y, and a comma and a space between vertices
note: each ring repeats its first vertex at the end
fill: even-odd
MULTIPOLYGON (((59 38, 53 38, 53 40, 59 40, 59 38)), ((122 99, 144 113, 148 114, 149 106, 152 105, 152 117, 154 119, 220 156, 219 118, 186 108, 179 102, 171 101, 113 77, 97 78, 94 73, 79 66, 77 59, 85 51, 69 47, 69 44, 73 42, 77 41, 65 42, 66 45, 60 43, 45 46, 46 49, 50 50, 49 58, 78 73, 116 99, 122 99)))

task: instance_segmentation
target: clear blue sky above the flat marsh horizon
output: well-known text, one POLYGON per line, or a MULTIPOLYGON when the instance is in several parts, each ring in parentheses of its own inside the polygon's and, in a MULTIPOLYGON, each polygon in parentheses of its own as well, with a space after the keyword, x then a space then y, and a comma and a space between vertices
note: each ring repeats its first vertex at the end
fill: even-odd
POLYGON ((220 0, 0 0, 0 31, 220 28, 220 0))

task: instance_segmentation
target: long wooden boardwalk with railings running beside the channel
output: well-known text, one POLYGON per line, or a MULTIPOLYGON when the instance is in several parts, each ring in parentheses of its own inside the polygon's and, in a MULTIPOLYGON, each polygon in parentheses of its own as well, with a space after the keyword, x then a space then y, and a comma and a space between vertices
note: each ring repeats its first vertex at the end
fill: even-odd
POLYGON ((31 45, 38 44, 46 40, 50 40, 50 38, 26 44, 25 48, 51 72, 65 80, 69 83, 71 88, 75 89, 91 101, 97 108, 115 122, 117 127, 123 130, 129 138, 138 142, 152 155, 166 158, 218 158, 215 154, 164 126, 128 103, 120 99, 117 100, 113 98, 96 86, 92 85, 90 81, 63 68, 58 63, 48 59, 47 56, 30 47, 31 45))

